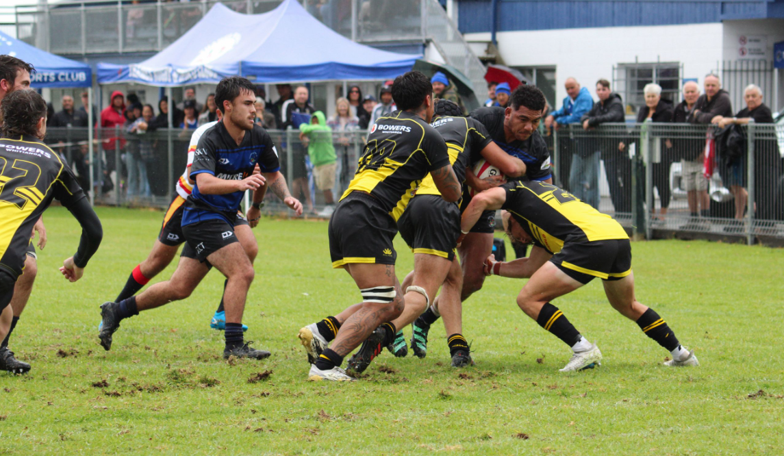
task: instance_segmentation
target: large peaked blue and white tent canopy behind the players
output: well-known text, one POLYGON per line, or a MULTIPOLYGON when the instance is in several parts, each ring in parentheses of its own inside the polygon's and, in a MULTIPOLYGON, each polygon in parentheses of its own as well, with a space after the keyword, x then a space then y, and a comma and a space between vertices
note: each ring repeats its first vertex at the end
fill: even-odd
POLYGON ((269 13, 241 14, 218 3, 158 54, 131 65, 98 63, 98 82, 176 87, 239 74, 260 83, 394 78, 421 56, 344 38, 285 0, 269 13))

